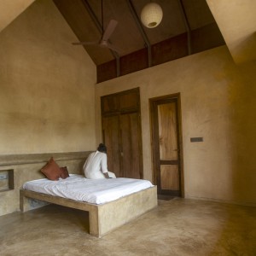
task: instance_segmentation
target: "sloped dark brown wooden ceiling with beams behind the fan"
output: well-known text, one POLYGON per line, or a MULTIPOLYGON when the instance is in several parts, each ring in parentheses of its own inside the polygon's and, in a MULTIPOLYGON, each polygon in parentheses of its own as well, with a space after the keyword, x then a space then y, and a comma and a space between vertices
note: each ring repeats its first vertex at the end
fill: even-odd
MULTIPOLYGON (((110 41, 118 52, 98 44, 84 47, 97 67, 97 82, 136 72, 224 44, 206 0, 155 0, 163 20, 155 28, 140 21, 149 0, 53 0, 80 42, 97 42, 110 20, 110 41), (103 16, 103 20, 102 20, 103 16)), ((72 44, 73 42, 70 42, 72 44)))

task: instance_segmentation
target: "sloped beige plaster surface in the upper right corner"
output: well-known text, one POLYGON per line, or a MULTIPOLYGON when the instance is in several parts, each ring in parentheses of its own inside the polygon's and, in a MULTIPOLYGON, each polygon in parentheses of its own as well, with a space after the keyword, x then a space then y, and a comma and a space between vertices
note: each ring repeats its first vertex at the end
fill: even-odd
POLYGON ((207 0, 236 63, 256 60, 256 1, 207 0))

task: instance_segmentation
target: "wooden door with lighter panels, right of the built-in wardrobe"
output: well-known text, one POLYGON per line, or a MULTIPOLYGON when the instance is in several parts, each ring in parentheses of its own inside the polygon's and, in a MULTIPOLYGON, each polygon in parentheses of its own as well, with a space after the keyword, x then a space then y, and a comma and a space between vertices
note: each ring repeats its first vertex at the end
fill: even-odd
POLYGON ((150 100, 154 182, 158 194, 182 196, 178 96, 150 100))

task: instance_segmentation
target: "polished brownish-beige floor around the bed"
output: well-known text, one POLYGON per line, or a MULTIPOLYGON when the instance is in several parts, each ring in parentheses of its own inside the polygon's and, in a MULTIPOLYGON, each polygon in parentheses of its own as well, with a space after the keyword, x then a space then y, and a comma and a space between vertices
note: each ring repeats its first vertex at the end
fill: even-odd
POLYGON ((49 205, 0 217, 0 255, 256 255, 256 207, 189 199, 96 238, 86 212, 49 205))

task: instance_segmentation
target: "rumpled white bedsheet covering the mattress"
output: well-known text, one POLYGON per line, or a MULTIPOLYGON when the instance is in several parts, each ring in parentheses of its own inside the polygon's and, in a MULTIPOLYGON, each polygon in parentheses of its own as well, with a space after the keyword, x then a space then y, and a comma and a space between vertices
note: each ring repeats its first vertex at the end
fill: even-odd
POLYGON ((144 179, 126 177, 88 179, 76 174, 71 174, 66 179, 60 178, 58 181, 42 178, 23 185, 23 189, 93 204, 114 201, 150 187, 153 187, 153 184, 144 179))

